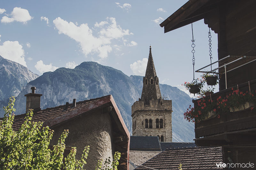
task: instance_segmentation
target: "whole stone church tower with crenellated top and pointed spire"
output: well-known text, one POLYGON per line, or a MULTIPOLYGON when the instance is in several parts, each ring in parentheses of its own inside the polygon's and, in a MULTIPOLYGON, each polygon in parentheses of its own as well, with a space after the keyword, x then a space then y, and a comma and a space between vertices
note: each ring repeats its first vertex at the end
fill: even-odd
POLYGON ((158 136, 160 142, 172 142, 172 100, 161 96, 151 46, 141 98, 132 105, 132 135, 158 136))

